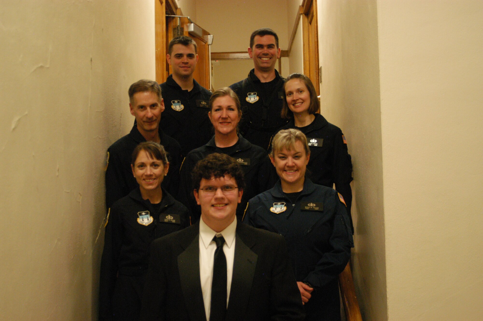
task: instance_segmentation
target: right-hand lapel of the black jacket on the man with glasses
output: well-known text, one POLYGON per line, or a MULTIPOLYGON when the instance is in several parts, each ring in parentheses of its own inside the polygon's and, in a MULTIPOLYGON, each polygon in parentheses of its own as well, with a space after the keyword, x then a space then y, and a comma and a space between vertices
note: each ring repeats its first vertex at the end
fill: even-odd
POLYGON ((243 319, 248 307, 258 258, 258 255, 251 250, 256 243, 251 237, 247 225, 237 222, 236 233, 235 258, 226 320, 243 319))

